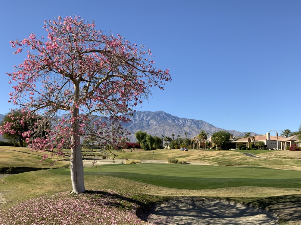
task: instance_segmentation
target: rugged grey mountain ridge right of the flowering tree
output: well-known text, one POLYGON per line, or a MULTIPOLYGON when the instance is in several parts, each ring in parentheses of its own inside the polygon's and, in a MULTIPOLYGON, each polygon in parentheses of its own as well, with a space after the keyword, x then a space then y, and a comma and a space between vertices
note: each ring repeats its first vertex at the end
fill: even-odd
MULTIPOLYGON (((152 136, 156 135, 161 137, 161 135, 172 137, 172 134, 175 134, 180 137, 185 137, 185 132, 187 132, 187 137, 193 138, 197 136, 201 129, 206 131, 208 137, 210 137, 214 132, 224 130, 222 128, 217 128, 212 124, 206 123, 203 120, 195 119, 186 119, 179 118, 177 116, 172 116, 163 111, 137 111, 134 113, 134 116, 130 117, 132 119, 128 124, 124 124, 124 127, 131 132, 129 138, 131 141, 136 142, 135 132, 136 131, 145 131, 147 134, 152 136)), ((226 130, 233 136, 244 136, 247 132, 238 132, 235 130, 226 130)), ((254 135, 255 133, 251 133, 254 135)))

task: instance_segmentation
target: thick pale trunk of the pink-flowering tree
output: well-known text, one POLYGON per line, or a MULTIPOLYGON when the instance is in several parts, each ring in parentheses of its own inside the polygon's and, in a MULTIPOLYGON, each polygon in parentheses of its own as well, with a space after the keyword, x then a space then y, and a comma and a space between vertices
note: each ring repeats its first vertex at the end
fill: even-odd
MULTIPOLYGON (((75 102, 79 98, 79 85, 74 85, 75 88, 75 102)), ((72 191, 74 193, 83 193, 85 192, 85 184, 84 184, 84 166, 82 163, 82 151, 80 146, 80 138, 79 138, 79 108, 74 104, 74 110, 72 113, 72 117, 76 118, 73 123, 73 134, 71 135, 71 159, 70 159, 70 168, 71 168, 71 182, 72 182, 72 191)))

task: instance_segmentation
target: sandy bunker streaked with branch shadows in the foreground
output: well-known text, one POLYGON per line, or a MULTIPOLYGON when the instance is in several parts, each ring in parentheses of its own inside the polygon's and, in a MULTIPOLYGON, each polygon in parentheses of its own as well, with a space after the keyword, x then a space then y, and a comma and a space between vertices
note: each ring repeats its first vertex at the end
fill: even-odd
POLYGON ((148 222, 189 225, 274 225, 277 217, 267 211, 227 201, 181 197, 157 205, 148 222))

